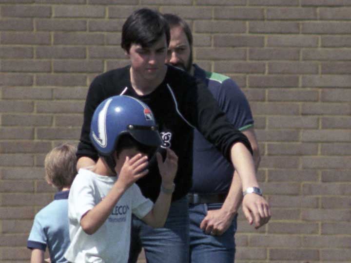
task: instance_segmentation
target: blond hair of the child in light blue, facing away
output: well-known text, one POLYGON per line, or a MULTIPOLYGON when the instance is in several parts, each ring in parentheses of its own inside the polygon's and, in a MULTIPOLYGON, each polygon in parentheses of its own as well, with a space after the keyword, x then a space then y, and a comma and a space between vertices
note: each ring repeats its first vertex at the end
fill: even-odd
POLYGON ((76 147, 62 144, 46 154, 45 179, 58 190, 70 187, 77 174, 76 147))

